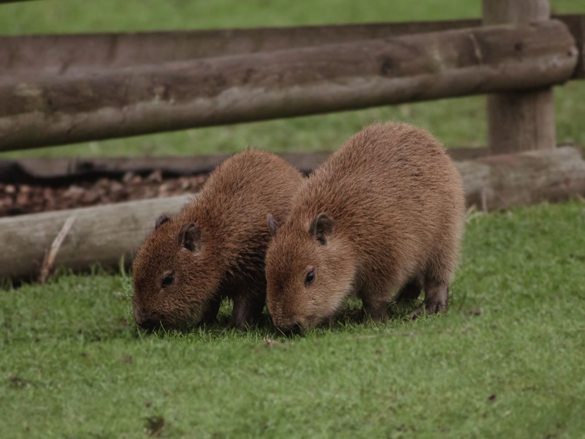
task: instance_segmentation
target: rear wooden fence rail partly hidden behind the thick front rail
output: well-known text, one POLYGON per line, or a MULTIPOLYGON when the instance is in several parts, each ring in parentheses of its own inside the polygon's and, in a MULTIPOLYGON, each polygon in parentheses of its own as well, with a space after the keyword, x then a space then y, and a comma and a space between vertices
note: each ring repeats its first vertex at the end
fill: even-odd
MULTIPOLYGON (((579 47, 573 74, 585 77, 585 15, 553 15, 579 47)), ((0 78, 78 73, 295 47, 321 46, 414 33, 476 28, 479 19, 281 28, 178 30, 167 32, 0 36, 0 78), (88 50, 88 48, 90 48, 88 50)))

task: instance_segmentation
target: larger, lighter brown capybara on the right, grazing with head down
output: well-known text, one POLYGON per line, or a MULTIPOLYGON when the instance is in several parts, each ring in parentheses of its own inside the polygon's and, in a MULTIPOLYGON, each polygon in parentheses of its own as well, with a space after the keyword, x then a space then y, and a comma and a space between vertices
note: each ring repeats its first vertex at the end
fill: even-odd
POLYGON ((267 305, 282 331, 324 323, 350 294, 379 321, 394 299, 416 299, 422 288, 413 317, 446 310, 464 196, 459 172, 428 132, 367 126, 302 183, 280 228, 267 219, 267 305))

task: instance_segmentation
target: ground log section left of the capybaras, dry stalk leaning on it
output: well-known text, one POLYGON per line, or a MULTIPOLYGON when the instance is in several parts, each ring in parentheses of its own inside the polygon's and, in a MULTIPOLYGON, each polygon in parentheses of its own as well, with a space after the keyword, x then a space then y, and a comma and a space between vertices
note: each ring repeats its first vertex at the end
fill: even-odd
POLYGON ((95 263, 116 266, 122 258, 128 262, 161 212, 177 211, 188 199, 156 198, 0 218, 0 279, 36 279, 44 255, 71 217, 75 221, 57 253, 55 267, 84 270, 95 263))

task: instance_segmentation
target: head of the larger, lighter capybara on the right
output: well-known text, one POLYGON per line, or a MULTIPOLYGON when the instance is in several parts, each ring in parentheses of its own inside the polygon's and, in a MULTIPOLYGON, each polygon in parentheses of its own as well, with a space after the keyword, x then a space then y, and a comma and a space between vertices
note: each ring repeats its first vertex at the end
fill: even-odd
POLYGON ((277 328, 298 332, 332 317, 352 289, 355 257, 350 243, 335 232, 325 213, 303 221, 290 218, 278 227, 266 253, 266 299, 277 328))

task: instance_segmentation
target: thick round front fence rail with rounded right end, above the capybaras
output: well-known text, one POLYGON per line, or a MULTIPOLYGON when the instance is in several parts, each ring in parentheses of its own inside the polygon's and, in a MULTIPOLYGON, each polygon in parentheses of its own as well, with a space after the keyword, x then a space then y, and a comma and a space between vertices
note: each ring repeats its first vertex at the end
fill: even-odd
POLYGON ((550 20, 1 83, 0 150, 526 90, 576 63, 550 20))

